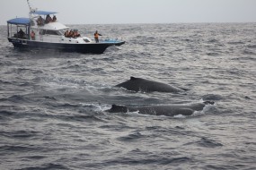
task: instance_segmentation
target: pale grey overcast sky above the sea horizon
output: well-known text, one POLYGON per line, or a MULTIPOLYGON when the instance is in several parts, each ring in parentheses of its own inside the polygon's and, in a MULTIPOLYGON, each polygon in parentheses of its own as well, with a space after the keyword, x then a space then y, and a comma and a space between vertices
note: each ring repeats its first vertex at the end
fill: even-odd
MULTIPOLYGON (((256 0, 30 0, 66 24, 256 22, 256 0)), ((28 17, 27 0, 0 0, 0 25, 28 17)))

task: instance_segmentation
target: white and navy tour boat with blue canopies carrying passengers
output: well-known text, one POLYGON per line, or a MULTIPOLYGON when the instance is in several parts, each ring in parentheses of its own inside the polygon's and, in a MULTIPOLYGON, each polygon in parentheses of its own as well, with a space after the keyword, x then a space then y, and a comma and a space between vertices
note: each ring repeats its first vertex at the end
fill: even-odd
POLYGON ((61 51, 102 54, 107 47, 120 46, 125 41, 105 39, 95 41, 82 37, 77 30, 70 30, 57 21, 55 12, 33 10, 29 18, 7 21, 8 40, 14 47, 42 48, 61 51))

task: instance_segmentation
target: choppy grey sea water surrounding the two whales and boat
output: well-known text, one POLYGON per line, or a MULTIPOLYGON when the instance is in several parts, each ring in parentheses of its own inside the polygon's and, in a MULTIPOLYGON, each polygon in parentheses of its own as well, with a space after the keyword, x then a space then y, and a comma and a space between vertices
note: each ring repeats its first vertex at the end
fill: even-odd
POLYGON ((102 55, 21 50, 0 26, 1 170, 256 167, 256 23, 70 25, 122 38, 102 55), (189 89, 144 93, 130 76, 189 89), (112 104, 215 102, 190 116, 112 104))

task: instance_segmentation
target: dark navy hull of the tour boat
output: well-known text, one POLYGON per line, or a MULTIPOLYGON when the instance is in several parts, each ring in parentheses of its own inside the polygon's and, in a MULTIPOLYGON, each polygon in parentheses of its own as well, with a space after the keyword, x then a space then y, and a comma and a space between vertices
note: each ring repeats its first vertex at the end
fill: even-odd
POLYGON ((107 47, 120 46, 124 41, 116 42, 103 42, 103 43, 86 43, 86 44, 68 44, 68 43, 51 43, 40 42, 21 38, 8 38, 9 42, 13 43, 14 47, 21 48, 37 48, 37 49, 52 49, 57 51, 78 52, 78 53, 91 53, 102 54, 107 47))

